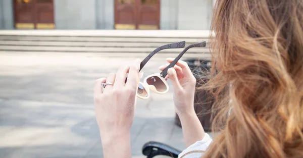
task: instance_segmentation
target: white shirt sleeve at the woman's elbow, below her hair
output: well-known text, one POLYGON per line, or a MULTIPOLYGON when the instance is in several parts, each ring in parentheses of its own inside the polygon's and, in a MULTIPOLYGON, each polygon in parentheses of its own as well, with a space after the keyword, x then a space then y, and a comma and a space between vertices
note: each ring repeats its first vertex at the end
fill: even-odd
MULTIPOLYGON (((206 151, 206 149, 210 146, 210 144, 213 142, 212 137, 205 133, 205 136, 202 140, 197 141, 193 143, 192 145, 188 146, 185 150, 183 150, 180 154, 179 157, 183 156, 187 152, 193 151, 193 150, 203 150, 206 151)), ((184 156, 184 158, 200 158, 203 156, 204 153, 201 152, 196 152, 196 153, 190 153, 184 156)))

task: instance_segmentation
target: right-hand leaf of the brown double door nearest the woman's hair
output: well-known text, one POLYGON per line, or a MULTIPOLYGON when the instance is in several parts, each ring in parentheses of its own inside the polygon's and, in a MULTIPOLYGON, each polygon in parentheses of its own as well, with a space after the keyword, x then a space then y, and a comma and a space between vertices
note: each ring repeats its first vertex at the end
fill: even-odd
POLYGON ((160 0, 140 0, 138 6, 137 28, 158 30, 159 23, 160 0))

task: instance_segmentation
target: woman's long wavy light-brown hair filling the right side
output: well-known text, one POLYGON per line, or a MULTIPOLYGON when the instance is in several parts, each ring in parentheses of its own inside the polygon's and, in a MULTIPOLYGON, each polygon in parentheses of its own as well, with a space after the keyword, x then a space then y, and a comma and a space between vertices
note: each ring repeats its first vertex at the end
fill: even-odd
POLYGON ((218 0, 211 30, 221 132, 203 157, 303 157, 303 1, 218 0))

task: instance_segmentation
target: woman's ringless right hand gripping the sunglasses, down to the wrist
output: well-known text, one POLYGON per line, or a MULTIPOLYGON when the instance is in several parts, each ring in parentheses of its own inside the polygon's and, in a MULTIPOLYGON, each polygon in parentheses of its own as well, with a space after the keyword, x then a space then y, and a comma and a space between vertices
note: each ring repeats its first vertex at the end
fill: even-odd
MULTIPOLYGON (((171 63, 174 59, 166 59, 168 63, 171 63)), ((159 67, 163 71, 169 64, 159 67)), ((183 114, 194 114, 193 100, 196 79, 190 71, 186 62, 178 61, 173 67, 168 69, 168 76, 173 84, 174 89, 174 104, 176 113, 181 116, 183 114)))

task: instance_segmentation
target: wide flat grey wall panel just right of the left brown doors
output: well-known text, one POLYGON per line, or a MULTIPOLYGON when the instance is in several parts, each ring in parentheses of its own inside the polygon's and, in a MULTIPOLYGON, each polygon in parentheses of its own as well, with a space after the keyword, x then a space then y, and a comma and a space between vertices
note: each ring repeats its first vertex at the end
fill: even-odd
POLYGON ((57 29, 96 29, 95 0, 55 0, 57 29))

